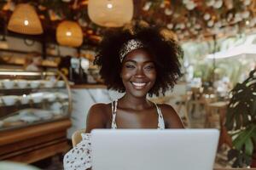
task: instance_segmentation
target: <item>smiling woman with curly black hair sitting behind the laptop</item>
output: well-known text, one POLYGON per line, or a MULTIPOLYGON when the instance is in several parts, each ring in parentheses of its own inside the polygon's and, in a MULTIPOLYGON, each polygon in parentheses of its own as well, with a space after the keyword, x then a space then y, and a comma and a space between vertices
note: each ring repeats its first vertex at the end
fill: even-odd
POLYGON ((65 169, 91 167, 90 131, 95 128, 183 128, 171 105, 156 105, 147 94, 158 96, 173 88, 180 77, 176 42, 157 28, 116 31, 102 40, 95 63, 108 88, 125 95, 110 104, 92 105, 83 140, 64 157, 65 169))

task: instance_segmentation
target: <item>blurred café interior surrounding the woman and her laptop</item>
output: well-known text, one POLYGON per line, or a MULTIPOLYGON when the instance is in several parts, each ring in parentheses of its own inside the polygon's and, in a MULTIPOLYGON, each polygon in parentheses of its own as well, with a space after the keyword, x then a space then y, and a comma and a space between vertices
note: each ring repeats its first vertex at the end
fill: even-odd
POLYGON ((220 130, 216 168, 255 167, 255 0, 1 0, 0 23, 0 169, 63 168, 90 106, 123 95, 93 65, 103 34, 138 25, 184 52, 176 87, 148 99, 220 130))

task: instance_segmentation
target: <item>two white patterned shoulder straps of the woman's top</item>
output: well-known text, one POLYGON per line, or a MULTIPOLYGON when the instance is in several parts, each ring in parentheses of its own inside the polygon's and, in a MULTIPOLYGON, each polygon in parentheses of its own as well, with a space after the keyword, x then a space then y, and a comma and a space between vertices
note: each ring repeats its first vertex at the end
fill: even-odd
MULTIPOLYGON (((111 105, 111 109, 112 109, 112 123, 111 123, 111 128, 116 129, 117 125, 116 125, 116 112, 117 112, 117 105, 118 105, 118 100, 114 100, 112 102, 111 105)), ((165 121, 164 121, 164 117, 162 115, 162 112, 160 110, 160 107, 158 105, 156 105, 154 103, 155 107, 156 107, 156 111, 158 114, 158 127, 157 129, 165 129, 165 121)))

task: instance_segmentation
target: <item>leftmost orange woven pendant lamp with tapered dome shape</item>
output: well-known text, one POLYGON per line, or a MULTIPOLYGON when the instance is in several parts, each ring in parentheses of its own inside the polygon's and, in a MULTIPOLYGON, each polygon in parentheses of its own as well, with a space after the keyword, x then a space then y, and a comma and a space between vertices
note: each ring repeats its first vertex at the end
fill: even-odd
POLYGON ((38 14, 30 4, 20 3, 15 8, 7 26, 9 31, 21 34, 38 35, 43 33, 38 14))

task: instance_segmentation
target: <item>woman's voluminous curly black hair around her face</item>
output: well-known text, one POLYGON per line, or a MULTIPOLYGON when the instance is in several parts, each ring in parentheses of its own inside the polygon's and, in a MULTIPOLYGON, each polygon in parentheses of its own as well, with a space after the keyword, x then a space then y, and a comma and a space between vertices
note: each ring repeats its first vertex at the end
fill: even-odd
POLYGON ((125 86, 119 73, 122 64, 119 60, 119 51, 124 43, 137 39, 143 42, 149 54, 152 54, 156 69, 154 86, 149 90, 149 96, 172 89, 181 77, 179 58, 183 57, 183 50, 172 39, 165 38, 160 33, 160 27, 142 27, 135 31, 110 31, 102 39, 94 64, 100 67, 100 75, 108 89, 125 92, 125 86))

